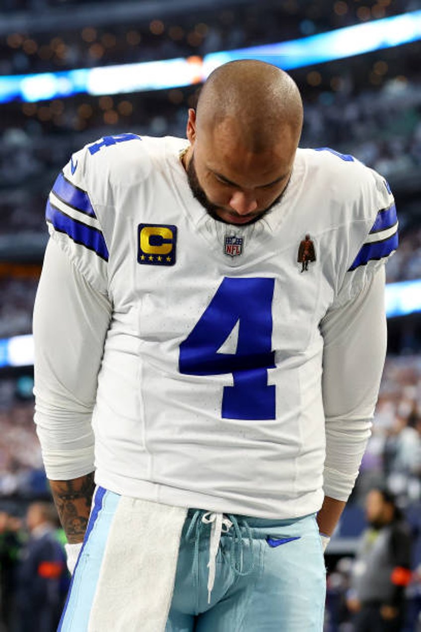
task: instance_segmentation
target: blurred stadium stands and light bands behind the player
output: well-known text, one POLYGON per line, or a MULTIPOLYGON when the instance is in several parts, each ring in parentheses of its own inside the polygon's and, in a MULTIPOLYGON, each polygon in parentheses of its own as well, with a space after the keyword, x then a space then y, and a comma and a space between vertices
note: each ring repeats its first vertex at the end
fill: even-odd
MULTIPOLYGON (((25 528, 19 519, 33 499, 49 499, 32 422, 31 320, 47 241, 45 198, 57 172, 71 152, 103 136, 184 137, 187 108, 209 71, 260 58, 299 84, 301 146, 355 155, 388 178, 396 197, 401 243, 387 269, 388 359, 372 439, 329 547, 326 632, 351 629, 343 607, 348 560, 365 526, 365 494, 379 482, 398 495, 412 525, 406 631, 417 629, 420 1, 3 0, 0 11, 0 513, 10 528, 25 528)), ((4 547, 0 556, 4 585, 4 547)), ((1 608, 4 615, 4 593, 0 621, 1 608)))

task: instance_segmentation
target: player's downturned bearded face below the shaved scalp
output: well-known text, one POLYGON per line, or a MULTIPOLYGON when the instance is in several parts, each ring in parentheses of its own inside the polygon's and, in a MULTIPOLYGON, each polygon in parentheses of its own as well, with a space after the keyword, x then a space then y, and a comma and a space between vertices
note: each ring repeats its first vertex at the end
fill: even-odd
POLYGON ((276 141, 256 150, 242 138, 232 119, 198 133, 191 112, 187 176, 195 197, 222 222, 257 221, 278 202, 287 186, 297 149, 294 133, 285 126, 276 141))

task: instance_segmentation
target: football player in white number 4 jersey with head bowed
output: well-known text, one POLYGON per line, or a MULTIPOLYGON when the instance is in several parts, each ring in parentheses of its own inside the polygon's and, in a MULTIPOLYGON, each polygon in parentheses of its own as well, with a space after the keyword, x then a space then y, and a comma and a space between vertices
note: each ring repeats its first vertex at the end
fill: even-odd
POLYGON ((35 422, 63 631, 323 629, 398 238, 388 183, 301 128, 292 78, 235 61, 187 140, 104 137, 54 183, 35 422))

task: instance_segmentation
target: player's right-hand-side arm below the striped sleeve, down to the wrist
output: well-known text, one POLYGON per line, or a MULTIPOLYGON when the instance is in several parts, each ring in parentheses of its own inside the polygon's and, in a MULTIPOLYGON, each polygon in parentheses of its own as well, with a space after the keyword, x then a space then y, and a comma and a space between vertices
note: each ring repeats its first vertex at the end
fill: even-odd
POLYGON ((353 300, 321 322, 326 461, 323 507, 317 521, 331 535, 350 495, 365 446, 386 355, 384 266, 353 300))

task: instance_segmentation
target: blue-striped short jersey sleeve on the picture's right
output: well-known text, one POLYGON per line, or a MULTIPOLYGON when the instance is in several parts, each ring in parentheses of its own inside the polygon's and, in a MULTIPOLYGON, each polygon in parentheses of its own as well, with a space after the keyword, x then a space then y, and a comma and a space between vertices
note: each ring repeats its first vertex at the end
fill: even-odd
POLYGON ((355 298, 398 248, 398 218, 390 186, 376 171, 365 167, 365 172, 367 178, 359 201, 359 216, 354 221, 358 237, 349 250, 350 258, 338 284, 335 307, 355 298))

